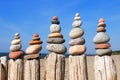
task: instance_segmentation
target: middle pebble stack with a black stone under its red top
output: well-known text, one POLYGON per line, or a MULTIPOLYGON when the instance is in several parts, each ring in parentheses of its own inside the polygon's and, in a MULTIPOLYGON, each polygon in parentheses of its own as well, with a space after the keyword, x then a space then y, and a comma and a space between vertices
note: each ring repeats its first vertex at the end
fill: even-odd
POLYGON ((51 34, 48 35, 48 45, 46 46, 46 48, 50 52, 54 52, 56 54, 64 54, 66 52, 66 47, 62 43, 64 43, 65 40, 63 39, 63 35, 60 33, 61 27, 59 25, 60 22, 58 21, 58 17, 54 16, 51 23, 51 34))

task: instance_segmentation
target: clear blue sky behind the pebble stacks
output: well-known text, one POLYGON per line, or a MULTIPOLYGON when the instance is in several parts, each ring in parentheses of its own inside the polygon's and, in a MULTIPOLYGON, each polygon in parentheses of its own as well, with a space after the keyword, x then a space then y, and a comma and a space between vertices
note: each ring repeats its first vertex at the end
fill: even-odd
POLYGON ((120 50, 120 1, 119 0, 0 0, 0 52, 9 52, 10 43, 16 32, 20 33, 22 49, 29 46, 28 41, 34 33, 43 41, 41 53, 46 50, 46 40, 50 33, 51 19, 58 16, 62 34, 69 48, 68 36, 75 13, 80 13, 85 31, 86 53, 95 54, 93 38, 99 18, 107 24, 111 49, 120 50))

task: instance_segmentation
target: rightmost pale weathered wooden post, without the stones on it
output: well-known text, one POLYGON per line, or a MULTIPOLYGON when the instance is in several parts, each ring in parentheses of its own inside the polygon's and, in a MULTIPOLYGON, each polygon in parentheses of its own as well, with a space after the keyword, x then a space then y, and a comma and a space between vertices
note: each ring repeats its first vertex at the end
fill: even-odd
POLYGON ((117 80, 116 67, 110 56, 95 56, 95 80, 117 80))

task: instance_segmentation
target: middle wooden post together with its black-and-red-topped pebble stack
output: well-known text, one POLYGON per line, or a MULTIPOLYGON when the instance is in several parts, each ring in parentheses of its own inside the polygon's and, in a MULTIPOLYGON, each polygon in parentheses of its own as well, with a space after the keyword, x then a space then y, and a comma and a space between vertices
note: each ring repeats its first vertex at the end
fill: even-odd
POLYGON ((51 34, 48 35, 47 50, 51 53, 45 57, 45 74, 44 80, 64 80, 65 74, 65 56, 66 47, 62 44, 65 42, 59 26, 57 16, 53 17, 50 26, 51 34))

